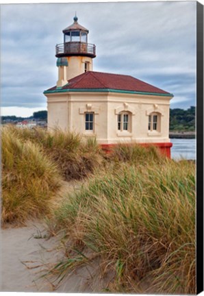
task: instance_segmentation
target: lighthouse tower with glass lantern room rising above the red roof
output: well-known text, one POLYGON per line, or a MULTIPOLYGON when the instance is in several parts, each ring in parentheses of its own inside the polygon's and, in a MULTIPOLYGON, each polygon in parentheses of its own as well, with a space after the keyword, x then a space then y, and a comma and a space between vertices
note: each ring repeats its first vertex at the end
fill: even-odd
POLYGON ((62 31, 64 42, 56 45, 58 87, 73 77, 92 71, 92 60, 96 57, 96 46, 88 43, 88 29, 79 25, 76 15, 73 20, 74 23, 62 31))

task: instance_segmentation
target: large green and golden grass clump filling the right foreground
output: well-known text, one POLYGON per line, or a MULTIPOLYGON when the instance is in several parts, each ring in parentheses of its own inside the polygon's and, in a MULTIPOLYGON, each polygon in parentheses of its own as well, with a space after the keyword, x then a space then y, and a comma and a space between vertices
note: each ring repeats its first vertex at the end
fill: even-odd
POLYGON ((55 223, 115 271, 112 291, 196 293, 194 164, 121 164, 67 195, 55 223))

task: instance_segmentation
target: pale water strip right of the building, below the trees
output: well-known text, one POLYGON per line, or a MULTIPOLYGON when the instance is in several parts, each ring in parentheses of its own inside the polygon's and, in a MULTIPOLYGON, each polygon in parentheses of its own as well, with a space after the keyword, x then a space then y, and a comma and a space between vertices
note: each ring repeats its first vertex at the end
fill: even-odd
POLYGON ((171 158, 177 160, 185 158, 188 160, 196 159, 196 139, 170 139, 173 147, 170 149, 171 158))

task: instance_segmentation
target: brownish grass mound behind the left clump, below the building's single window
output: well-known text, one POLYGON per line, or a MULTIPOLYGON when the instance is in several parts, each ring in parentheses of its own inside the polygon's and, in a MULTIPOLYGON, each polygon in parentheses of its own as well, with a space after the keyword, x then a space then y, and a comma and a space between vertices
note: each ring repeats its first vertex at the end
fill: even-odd
POLYGON ((48 132, 42 128, 19 129, 7 127, 8 132, 23 141, 38 143, 42 151, 58 164, 64 180, 87 177, 103 162, 102 152, 95 139, 86 140, 74 132, 59 129, 48 132))

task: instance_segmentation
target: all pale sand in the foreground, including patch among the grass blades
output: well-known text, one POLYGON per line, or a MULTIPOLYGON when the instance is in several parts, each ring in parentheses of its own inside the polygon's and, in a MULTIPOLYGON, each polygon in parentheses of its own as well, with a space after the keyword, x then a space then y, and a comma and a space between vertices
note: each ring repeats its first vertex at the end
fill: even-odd
MULTIPOLYGON (((25 227, 1 230, 1 291, 90 293, 104 291, 112 278, 100 277, 98 258, 66 276, 60 286, 54 279, 39 278, 47 266, 60 262, 64 250, 59 238, 47 238, 42 221, 29 221, 25 227)), ((88 255, 88 254, 86 254, 88 255)))

